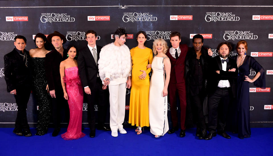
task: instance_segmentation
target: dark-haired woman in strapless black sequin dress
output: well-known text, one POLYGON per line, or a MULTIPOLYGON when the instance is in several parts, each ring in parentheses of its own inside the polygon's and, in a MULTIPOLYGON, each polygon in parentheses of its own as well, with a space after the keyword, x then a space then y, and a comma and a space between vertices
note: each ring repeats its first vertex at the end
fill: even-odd
POLYGON ((30 49, 29 54, 32 57, 32 73, 33 73, 33 93, 37 99, 38 109, 38 124, 37 132, 35 135, 42 136, 47 133, 51 101, 50 95, 48 94, 48 85, 46 81, 45 73, 45 58, 49 52, 45 47, 46 36, 38 33, 35 36, 34 42, 36 49, 30 49))

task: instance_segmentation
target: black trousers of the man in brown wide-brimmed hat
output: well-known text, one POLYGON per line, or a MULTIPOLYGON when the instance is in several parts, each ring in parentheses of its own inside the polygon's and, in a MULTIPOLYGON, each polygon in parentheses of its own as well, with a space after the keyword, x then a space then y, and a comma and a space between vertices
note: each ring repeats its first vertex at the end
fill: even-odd
POLYGON ((65 122, 69 121, 69 106, 67 100, 63 97, 63 89, 55 89, 56 98, 51 98, 52 101, 52 120, 54 123, 54 128, 61 127, 61 120, 63 114, 65 116, 65 122))

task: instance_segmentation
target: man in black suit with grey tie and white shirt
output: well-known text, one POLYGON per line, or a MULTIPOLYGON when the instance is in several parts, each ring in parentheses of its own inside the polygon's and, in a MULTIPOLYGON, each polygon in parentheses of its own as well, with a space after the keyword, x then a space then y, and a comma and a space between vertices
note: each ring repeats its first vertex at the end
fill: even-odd
POLYGON ((87 94, 88 101, 88 124, 90 127, 91 138, 95 137, 95 110, 94 105, 99 105, 98 111, 98 130, 110 131, 104 126, 107 106, 109 105, 109 91, 107 86, 102 84, 98 74, 98 60, 100 58, 101 46, 96 45, 98 39, 94 30, 88 30, 85 34, 87 46, 79 52, 78 68, 84 92, 87 94))

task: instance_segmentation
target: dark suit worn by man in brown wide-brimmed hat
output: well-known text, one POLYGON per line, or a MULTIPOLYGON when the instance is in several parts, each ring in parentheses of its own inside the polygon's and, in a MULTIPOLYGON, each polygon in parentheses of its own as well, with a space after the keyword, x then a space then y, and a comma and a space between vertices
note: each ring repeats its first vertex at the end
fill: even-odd
POLYGON ((60 63, 67 58, 67 50, 63 49, 63 57, 53 49, 46 54, 45 70, 46 79, 49 90, 55 90, 56 98, 51 98, 52 101, 52 117, 55 128, 60 128, 61 125, 61 109, 65 110, 65 117, 69 116, 69 107, 67 101, 63 97, 63 87, 61 84, 60 63))

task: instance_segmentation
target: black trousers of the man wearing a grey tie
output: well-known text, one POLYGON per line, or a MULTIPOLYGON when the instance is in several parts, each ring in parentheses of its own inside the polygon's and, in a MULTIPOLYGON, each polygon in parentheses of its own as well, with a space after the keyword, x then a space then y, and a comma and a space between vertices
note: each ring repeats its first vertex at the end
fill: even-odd
POLYGON ((103 127, 107 109, 109 107, 109 90, 102 90, 102 80, 97 78, 94 90, 91 90, 91 95, 87 95, 87 118, 90 130, 95 130, 96 112, 95 105, 98 105, 98 127, 103 127))

